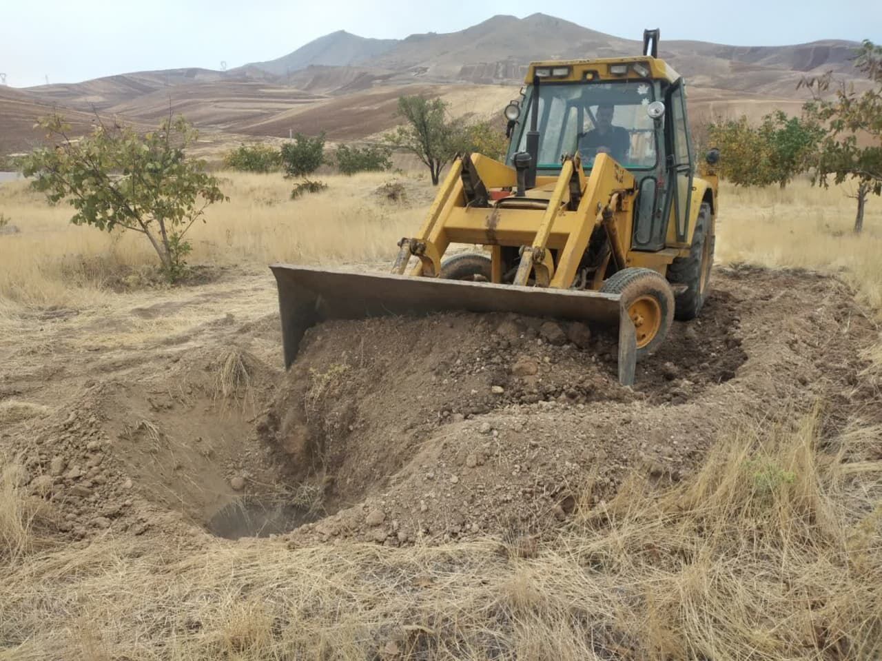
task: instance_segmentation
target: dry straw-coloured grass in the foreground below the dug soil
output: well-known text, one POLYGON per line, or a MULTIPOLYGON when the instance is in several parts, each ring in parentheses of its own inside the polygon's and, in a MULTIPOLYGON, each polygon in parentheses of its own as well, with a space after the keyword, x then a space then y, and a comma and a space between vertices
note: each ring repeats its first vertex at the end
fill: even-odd
POLYGON ((817 423, 737 433, 669 492, 635 479, 534 558, 121 538, 7 561, 0 658, 878 658, 882 510, 842 507, 848 448, 817 423))

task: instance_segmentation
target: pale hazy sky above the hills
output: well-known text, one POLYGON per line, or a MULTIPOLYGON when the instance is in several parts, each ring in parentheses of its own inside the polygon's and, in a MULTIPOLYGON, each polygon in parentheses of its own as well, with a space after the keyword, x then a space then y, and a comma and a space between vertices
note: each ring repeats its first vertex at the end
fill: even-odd
POLYGON ((778 45, 882 41, 882 0, 567 2, 526 0, 10 0, 0 9, 0 71, 11 86, 77 82, 126 71, 228 68, 273 59, 336 30, 402 38, 453 32, 495 14, 535 11, 617 36, 778 45), (617 13, 611 7, 621 8, 617 13))

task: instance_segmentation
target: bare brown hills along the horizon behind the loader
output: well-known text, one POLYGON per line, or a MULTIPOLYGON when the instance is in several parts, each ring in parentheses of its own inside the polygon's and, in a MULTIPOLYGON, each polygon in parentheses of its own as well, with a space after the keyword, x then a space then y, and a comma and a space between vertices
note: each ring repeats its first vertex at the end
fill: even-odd
MULTIPOLYGON (((665 41, 662 34, 659 56, 688 79, 691 116, 759 116, 775 108, 798 111, 804 94, 796 83, 807 73, 859 79, 850 61, 857 46, 827 40, 741 47, 665 41)), ((490 115, 516 94, 530 61, 638 55, 641 47, 542 13, 494 16, 459 32, 401 40, 338 31, 230 71, 138 71, 24 90, 0 87, 0 150, 34 144, 34 118, 53 109, 85 129, 94 111, 155 125, 171 108, 190 118, 206 141, 221 134, 224 140, 287 138, 292 131, 359 139, 400 121, 400 94, 442 96, 456 114, 490 115)))

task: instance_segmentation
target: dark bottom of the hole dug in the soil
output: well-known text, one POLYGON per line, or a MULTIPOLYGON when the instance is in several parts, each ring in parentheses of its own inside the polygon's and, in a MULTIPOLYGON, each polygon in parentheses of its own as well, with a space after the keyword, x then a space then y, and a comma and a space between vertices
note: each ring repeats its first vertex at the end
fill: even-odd
POLYGON ((221 507, 207 522, 215 537, 270 537, 295 530, 321 518, 321 514, 290 502, 243 496, 221 507))

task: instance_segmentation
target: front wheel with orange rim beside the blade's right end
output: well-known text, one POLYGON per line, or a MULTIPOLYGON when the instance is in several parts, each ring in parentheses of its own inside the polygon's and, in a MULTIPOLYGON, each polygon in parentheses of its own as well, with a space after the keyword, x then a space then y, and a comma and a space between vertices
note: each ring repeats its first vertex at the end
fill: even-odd
POLYGON ((674 292, 651 268, 624 268, 603 283, 605 294, 622 297, 637 335, 637 359, 655 352, 674 323, 674 292))

